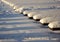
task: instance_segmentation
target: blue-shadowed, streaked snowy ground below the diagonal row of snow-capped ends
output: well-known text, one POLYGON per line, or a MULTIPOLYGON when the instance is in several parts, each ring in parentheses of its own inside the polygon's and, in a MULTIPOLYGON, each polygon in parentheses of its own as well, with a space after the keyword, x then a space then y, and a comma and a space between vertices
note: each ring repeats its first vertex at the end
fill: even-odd
POLYGON ((3 8, 9 12, 0 14, 0 42, 60 42, 60 31, 51 31, 6 4, 3 8))

